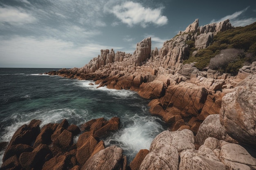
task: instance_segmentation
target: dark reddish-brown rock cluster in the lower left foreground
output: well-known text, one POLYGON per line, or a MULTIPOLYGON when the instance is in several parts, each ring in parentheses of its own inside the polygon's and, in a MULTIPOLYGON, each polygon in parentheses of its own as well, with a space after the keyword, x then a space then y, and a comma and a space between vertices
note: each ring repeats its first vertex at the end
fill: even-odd
POLYGON ((102 161, 98 161, 97 167, 108 170, 126 167, 126 157, 122 155, 121 148, 105 148, 104 142, 99 141, 100 137, 118 130, 118 117, 109 121, 99 118, 86 122, 82 127, 90 126, 79 136, 76 144, 73 137, 81 132, 78 126, 69 125, 64 119, 60 124, 47 124, 40 129, 40 122, 32 120, 15 132, 4 152, 1 170, 94 169, 92 163, 98 159, 102 161))

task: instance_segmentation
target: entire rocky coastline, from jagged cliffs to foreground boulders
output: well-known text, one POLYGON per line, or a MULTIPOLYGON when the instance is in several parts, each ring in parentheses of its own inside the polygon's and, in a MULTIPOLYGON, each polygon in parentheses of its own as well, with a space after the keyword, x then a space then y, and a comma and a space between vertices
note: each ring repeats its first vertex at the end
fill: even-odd
POLYGON ((168 130, 129 165, 121 148, 105 148, 99 140, 118 130, 119 118, 113 117, 81 127, 63 120, 41 129, 40 120, 33 120, 13 135, 1 169, 256 170, 256 62, 235 76, 183 64, 189 57, 188 40, 204 49, 216 33, 232 28, 229 20, 199 26, 197 19, 159 50, 151 50, 151 38, 146 38, 133 54, 101 50, 82 68, 45 73, 93 80, 99 87, 129 89, 151 99, 150 113, 162 117, 168 130))

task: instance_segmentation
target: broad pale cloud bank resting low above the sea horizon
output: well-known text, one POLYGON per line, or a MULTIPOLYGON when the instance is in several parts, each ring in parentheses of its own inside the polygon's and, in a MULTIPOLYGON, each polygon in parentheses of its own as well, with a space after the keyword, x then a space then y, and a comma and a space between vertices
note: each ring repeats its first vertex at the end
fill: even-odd
POLYGON ((101 49, 121 49, 88 43, 76 46, 73 42, 46 37, 0 37, 0 67, 72 68, 87 64, 101 49))

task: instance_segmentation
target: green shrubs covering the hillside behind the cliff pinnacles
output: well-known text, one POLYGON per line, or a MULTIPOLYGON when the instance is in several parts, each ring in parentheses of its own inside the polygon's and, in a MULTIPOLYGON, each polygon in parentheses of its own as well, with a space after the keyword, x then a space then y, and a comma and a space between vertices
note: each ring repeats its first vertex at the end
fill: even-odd
POLYGON ((189 58, 184 60, 183 63, 197 62, 195 66, 200 70, 209 66, 222 73, 236 74, 242 66, 256 61, 255 40, 256 22, 248 26, 239 26, 234 29, 218 32, 214 35, 213 43, 205 49, 197 50, 195 42, 188 40, 186 44, 189 45, 190 54, 189 58), (222 51, 225 49, 231 50, 222 51), (197 51, 197 53, 193 53, 194 51, 197 51), (230 56, 230 53, 233 53, 233 57, 230 56), (222 56, 222 59, 220 56, 222 56), (216 65, 217 63, 218 65, 216 65))

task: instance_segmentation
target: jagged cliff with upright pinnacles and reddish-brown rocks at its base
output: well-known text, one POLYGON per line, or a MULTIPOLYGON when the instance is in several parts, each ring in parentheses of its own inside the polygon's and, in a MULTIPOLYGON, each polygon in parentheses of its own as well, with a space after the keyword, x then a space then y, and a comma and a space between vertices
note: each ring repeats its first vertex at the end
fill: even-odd
POLYGON ((94 80, 99 87, 138 91, 141 97, 153 99, 150 112, 161 116, 171 130, 186 126, 196 134, 208 115, 219 113, 222 97, 239 79, 217 71, 199 71, 194 63, 183 64, 190 53, 186 42, 193 40, 196 49, 204 49, 211 45, 216 33, 232 28, 229 20, 199 26, 196 19, 159 50, 151 50, 151 38, 145 38, 137 43, 133 54, 101 50, 101 55, 82 68, 47 74, 94 80))

